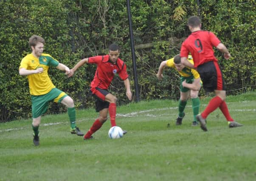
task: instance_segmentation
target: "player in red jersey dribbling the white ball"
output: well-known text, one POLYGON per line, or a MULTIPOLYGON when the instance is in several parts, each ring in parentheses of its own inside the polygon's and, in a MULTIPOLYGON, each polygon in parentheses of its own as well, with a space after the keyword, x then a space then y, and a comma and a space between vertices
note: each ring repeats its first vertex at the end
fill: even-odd
MULTIPOLYGON (((130 89, 126 64, 118 58, 119 54, 119 46, 117 44, 111 44, 108 55, 84 58, 70 70, 68 77, 73 76, 74 72, 85 63, 97 64, 95 76, 90 84, 90 92, 95 97, 96 111, 99 112, 99 117, 93 123, 87 134, 84 135, 84 139, 93 138, 92 134, 101 128, 102 124, 107 120, 108 111, 110 114, 111 126, 116 125, 115 114, 117 97, 110 94, 107 90, 116 73, 118 73, 120 78, 124 81, 128 99, 132 100, 132 92, 130 89)), ((126 131, 124 131, 124 134, 126 134, 126 131)))

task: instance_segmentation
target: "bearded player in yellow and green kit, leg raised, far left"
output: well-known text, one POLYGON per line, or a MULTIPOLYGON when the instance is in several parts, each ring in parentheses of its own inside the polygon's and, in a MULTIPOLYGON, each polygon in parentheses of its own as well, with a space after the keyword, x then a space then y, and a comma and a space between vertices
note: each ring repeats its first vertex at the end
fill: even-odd
POLYGON ((68 107, 68 117, 70 120, 70 133, 83 136, 83 133, 76 127, 76 110, 74 101, 65 92, 57 89, 49 75, 49 67, 56 67, 59 70, 70 73, 69 68, 59 63, 48 54, 42 53, 44 50, 45 40, 37 35, 33 35, 29 39, 29 46, 32 53, 25 56, 20 62, 19 73, 28 77, 29 90, 32 101, 32 128, 34 130, 34 145, 39 145, 39 124, 41 116, 48 109, 50 101, 62 103, 68 107))

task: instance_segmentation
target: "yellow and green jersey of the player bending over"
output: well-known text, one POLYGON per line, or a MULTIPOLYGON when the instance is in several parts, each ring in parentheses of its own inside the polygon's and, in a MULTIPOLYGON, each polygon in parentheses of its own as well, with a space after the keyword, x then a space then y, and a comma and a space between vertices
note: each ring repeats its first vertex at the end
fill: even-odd
MULTIPOLYGON (((191 64, 194 64, 194 61, 193 61, 193 58, 192 58, 191 55, 188 56, 188 61, 190 61, 191 64)), ((167 64, 167 67, 172 67, 175 70, 177 70, 175 65, 174 65, 174 58, 168 59, 166 64, 167 64)), ((178 72, 182 77, 191 77, 191 76, 193 76, 194 78, 200 78, 199 73, 196 70, 191 69, 189 67, 184 67, 181 71, 178 71, 178 72)))

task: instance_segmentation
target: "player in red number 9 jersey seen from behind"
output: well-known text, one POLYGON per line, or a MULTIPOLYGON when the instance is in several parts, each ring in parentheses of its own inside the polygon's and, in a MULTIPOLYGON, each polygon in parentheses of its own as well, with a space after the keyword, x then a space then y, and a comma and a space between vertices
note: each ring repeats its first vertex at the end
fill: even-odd
POLYGON ((224 79, 222 77, 222 71, 219 68, 218 60, 214 56, 213 47, 224 53, 225 59, 231 57, 228 49, 219 41, 214 33, 201 30, 201 20, 199 17, 190 17, 188 19, 188 28, 191 34, 181 45, 181 62, 187 67, 197 69, 203 81, 205 91, 214 92, 216 95, 210 100, 205 110, 197 115, 200 127, 203 131, 207 131, 205 119, 217 108, 226 117, 229 128, 242 126, 236 123, 229 114, 227 104, 225 103, 226 91, 224 79), (193 57, 194 65, 187 60, 189 53, 193 57))

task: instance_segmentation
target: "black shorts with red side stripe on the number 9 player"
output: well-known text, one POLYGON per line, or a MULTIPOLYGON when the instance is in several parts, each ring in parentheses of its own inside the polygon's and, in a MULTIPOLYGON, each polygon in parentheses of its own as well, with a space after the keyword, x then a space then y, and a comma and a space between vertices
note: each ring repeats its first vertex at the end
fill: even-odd
POLYGON ((208 61, 197 67, 206 92, 226 90, 222 72, 217 61, 208 61))

